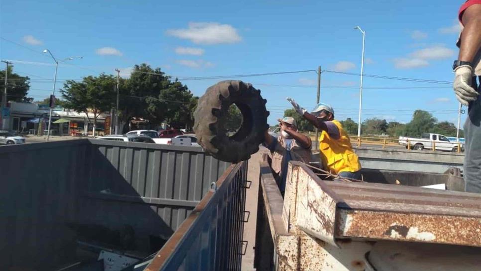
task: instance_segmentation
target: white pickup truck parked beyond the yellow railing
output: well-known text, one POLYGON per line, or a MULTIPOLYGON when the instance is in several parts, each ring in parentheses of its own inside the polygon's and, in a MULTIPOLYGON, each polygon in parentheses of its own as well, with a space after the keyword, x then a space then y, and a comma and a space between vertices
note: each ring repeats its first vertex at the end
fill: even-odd
POLYGON ((414 150, 423 150, 423 149, 434 149, 435 150, 444 150, 444 151, 452 151, 458 152, 458 144, 460 146, 460 150, 464 151, 464 144, 462 143, 452 143, 446 138, 446 136, 440 134, 433 134, 433 133, 423 133, 421 138, 411 138, 411 137, 399 137, 399 144, 408 148, 410 146, 411 149, 414 150))

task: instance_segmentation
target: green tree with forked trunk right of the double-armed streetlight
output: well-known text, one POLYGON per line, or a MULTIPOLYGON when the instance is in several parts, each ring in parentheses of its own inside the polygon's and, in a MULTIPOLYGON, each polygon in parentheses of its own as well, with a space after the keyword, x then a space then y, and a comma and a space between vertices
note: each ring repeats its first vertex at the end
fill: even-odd
POLYGON ((78 113, 93 114, 92 135, 95 136, 95 126, 100 114, 108 112, 115 101, 114 86, 116 81, 112 75, 100 74, 97 77, 87 76, 82 82, 67 80, 61 89, 65 100, 64 106, 78 113))

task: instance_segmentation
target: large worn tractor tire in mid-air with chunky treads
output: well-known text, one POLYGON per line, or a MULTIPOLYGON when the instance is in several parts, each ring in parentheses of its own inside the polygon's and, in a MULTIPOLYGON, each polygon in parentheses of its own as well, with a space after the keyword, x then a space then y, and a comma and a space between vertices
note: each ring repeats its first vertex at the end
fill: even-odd
POLYGON ((221 161, 237 163, 249 159, 259 151, 269 128, 266 102, 260 90, 242 81, 222 81, 209 87, 194 111, 197 142, 221 161), (241 111, 242 124, 236 134, 227 136, 224 124, 231 104, 241 111))

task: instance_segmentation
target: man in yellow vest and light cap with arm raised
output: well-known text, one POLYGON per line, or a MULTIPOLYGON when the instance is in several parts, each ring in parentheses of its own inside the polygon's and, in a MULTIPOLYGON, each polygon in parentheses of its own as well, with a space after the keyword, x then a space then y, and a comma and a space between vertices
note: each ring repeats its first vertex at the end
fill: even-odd
POLYGON ((361 164, 358 155, 354 153, 351 140, 341 123, 334 120, 334 109, 330 105, 319 103, 311 113, 308 113, 293 99, 287 100, 297 113, 321 131, 319 151, 324 170, 340 177, 360 180, 361 164))

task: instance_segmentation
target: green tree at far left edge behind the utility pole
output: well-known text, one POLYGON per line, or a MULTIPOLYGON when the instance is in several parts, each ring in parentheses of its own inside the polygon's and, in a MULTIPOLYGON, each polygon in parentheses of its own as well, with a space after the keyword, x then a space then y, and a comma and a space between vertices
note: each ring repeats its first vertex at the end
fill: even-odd
MULTIPOLYGON (((0 70, 0 97, 3 97, 5 89, 5 70, 0 70)), ((28 90, 30 90, 30 78, 28 76, 20 76, 13 73, 13 67, 8 67, 8 86, 7 99, 15 102, 31 102, 33 98, 28 98, 28 90)))

